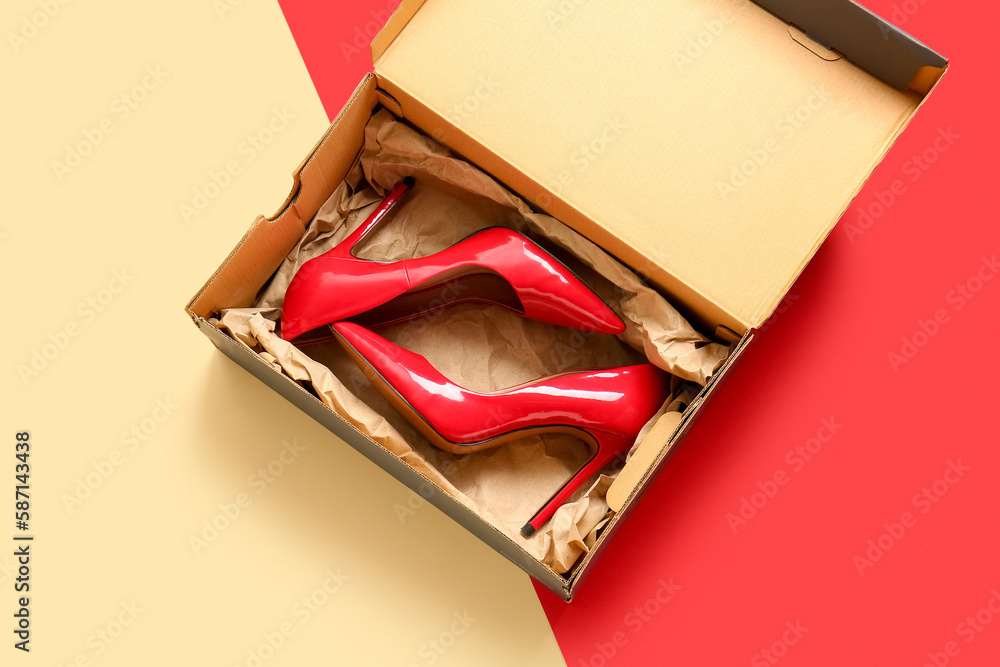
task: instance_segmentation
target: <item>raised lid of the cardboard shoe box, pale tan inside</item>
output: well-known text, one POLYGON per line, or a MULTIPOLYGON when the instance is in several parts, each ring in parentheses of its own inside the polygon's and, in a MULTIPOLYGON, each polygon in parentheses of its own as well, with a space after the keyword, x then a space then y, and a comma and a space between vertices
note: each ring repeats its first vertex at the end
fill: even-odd
POLYGON ((409 0, 375 72, 537 184, 522 195, 597 222, 608 250, 743 333, 946 66, 847 0, 761 1, 874 74, 734 0, 409 0))

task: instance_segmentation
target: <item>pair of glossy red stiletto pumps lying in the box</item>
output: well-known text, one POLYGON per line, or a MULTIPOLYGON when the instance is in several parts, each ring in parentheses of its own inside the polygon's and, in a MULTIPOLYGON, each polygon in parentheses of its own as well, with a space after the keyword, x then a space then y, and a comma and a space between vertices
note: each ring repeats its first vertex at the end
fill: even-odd
POLYGON ((366 322, 387 324, 425 314, 444 305, 422 302, 421 292, 462 279, 466 289, 449 305, 480 301, 585 331, 625 330, 621 319, 568 268, 511 229, 484 229, 416 259, 376 262, 355 257, 354 247, 412 186, 410 178, 398 183, 339 245, 302 265, 285 294, 281 336, 292 340, 330 324, 372 384, 445 451, 476 452, 529 433, 565 432, 584 440, 590 458, 521 529, 531 535, 580 485, 629 451, 640 429, 669 397, 667 376, 652 364, 640 364, 561 373, 480 393, 451 382, 424 357, 346 321, 363 316, 366 322), (503 416, 503 423, 497 415, 503 416))

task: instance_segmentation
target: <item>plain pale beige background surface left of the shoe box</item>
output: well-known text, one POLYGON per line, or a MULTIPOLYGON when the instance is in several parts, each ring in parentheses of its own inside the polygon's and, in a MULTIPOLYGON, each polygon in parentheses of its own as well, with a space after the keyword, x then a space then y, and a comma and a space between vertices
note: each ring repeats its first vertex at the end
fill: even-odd
MULTIPOLYGON (((32 652, 8 634, 0 663, 247 665, 261 645, 269 656, 270 635, 280 647, 268 667, 562 664, 527 576, 225 359, 182 313, 254 215, 284 201, 326 126, 277 4, 221 19, 207 0, 57 6, 0 56, 7 619, 24 428, 36 535, 32 652), (116 102, 144 77, 136 108, 116 102), (60 180, 52 163, 105 118, 113 130, 60 180), (272 119, 280 130, 250 160, 241 145, 272 119), (186 223, 180 205, 228 161, 239 172, 186 223), (35 358, 34 374, 36 351, 50 358, 35 358), (281 472, 268 483, 256 471, 269 463, 281 472), (345 470, 349 486, 326 484, 345 470), (96 488, 67 501, 88 475, 96 488), (227 521, 220 504, 235 515, 238 500, 227 521), (229 525, 195 553, 192 536, 213 520, 229 525)), ((39 11, 8 2, 2 25, 16 34, 39 11)))

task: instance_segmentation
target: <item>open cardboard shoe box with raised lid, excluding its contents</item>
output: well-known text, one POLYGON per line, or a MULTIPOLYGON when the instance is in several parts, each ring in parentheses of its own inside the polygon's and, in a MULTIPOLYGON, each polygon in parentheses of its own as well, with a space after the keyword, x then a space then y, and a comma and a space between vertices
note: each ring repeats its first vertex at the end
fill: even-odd
MULTIPOLYGON (((642 6, 405 0, 374 71, 187 306, 217 347, 569 600, 706 400, 944 73, 847 0, 642 6), (365 437, 214 326, 251 305, 355 162, 384 107, 645 276, 731 345, 596 544, 567 575, 365 437)), ((645 446, 645 443, 644 445, 645 446)))

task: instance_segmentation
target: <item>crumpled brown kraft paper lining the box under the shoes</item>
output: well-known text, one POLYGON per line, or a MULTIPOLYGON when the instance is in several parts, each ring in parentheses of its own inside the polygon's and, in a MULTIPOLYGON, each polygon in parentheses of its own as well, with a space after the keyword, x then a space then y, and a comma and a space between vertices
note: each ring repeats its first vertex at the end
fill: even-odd
POLYGON ((332 410, 540 562, 558 573, 569 572, 593 546, 605 522, 604 496, 615 471, 578 490, 542 530, 523 537, 521 526, 587 459, 583 442, 546 434, 467 455, 437 449, 375 390, 332 338, 297 347, 275 333, 295 271, 336 246, 396 182, 413 176, 415 187, 355 249, 357 256, 398 261, 437 252, 479 229, 512 227, 543 243, 627 325, 620 338, 565 329, 503 308, 462 303, 459 294, 449 295, 445 288, 439 298, 445 303, 453 299, 456 305, 378 333, 425 356, 450 380, 488 392, 552 373, 648 360, 674 376, 671 386, 677 392, 683 380, 704 384, 725 360, 728 347, 695 331, 663 297, 596 245, 533 211, 490 176, 388 111, 372 117, 365 138, 359 161, 316 214, 256 306, 224 310, 215 323, 310 387, 332 410))

